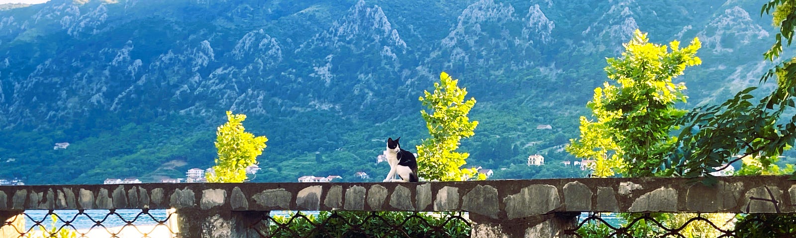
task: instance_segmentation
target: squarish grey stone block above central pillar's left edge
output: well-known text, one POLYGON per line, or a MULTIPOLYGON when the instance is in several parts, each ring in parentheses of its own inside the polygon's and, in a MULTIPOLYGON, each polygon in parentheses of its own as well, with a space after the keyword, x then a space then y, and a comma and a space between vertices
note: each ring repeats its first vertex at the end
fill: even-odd
POLYGON ((470 213, 478 213, 486 217, 497 219, 500 213, 497 202, 497 189, 493 186, 476 185, 472 190, 464 194, 462 198, 462 209, 470 213))

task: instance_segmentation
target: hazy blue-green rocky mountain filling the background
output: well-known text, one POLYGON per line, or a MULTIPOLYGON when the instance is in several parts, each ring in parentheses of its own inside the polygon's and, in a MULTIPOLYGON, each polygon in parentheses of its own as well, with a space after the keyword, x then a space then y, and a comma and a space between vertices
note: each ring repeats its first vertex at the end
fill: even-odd
POLYGON ((269 138, 255 181, 388 171, 388 136, 427 137, 417 101, 447 71, 479 121, 468 164, 497 169, 578 135, 634 29, 703 42, 684 108, 758 83, 758 1, 52 0, 0 11, 0 178, 180 177, 213 164, 224 111, 269 138), (552 125, 552 129, 537 129, 552 125), (68 148, 53 149, 56 143, 68 148))

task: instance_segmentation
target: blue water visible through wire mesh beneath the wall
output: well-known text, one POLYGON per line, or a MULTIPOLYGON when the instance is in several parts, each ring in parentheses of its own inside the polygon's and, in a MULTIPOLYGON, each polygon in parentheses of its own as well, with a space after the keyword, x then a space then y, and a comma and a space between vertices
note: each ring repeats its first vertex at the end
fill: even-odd
MULTIPOLYGON (((42 221, 41 225, 46 228, 53 227, 53 221, 47 216, 46 210, 27 210, 25 214, 25 230, 33 228, 35 221, 42 221), (32 219, 31 219, 32 218, 32 219)), ((71 221, 70 225, 76 229, 88 229, 97 225, 96 221, 102 221, 102 225, 111 228, 127 225, 126 221, 132 221, 133 225, 157 225, 158 221, 166 221, 166 210, 150 210, 149 215, 142 214, 140 209, 117 209, 115 214, 109 214, 108 210, 85 210, 83 214, 77 215, 77 210, 56 210, 55 213, 60 217, 56 222, 57 227, 64 225, 64 221, 71 221), (151 216, 150 216, 151 215, 151 216), (136 218, 138 217, 138 218, 136 218), (93 221, 92 221, 93 219, 93 221)), ((271 211, 271 216, 291 216, 293 211, 271 211)), ((318 211, 302 211, 310 215, 318 215, 318 211)), ((586 219, 587 213, 581 213, 578 222, 586 219)), ((603 220, 614 227, 622 225, 624 221, 616 217, 615 213, 603 213, 603 220)), ((33 230, 38 230, 38 227, 33 230)))

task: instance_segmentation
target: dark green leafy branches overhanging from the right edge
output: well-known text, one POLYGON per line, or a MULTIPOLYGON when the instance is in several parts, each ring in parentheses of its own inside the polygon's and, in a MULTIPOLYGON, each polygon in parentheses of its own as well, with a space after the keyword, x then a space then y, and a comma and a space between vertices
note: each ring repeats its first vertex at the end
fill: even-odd
MULTIPOLYGON (((773 0, 763 5, 760 14, 772 10, 774 25, 780 33, 775 35, 775 44, 763 58, 775 61, 782 53, 783 40, 789 46, 793 38, 796 4, 773 0)), ((671 163, 661 164, 661 168, 674 168, 671 173, 689 178, 704 176, 702 182, 712 184, 716 178, 708 173, 725 169, 721 164, 741 158, 756 159, 760 167, 774 163, 778 155, 796 142, 796 116, 782 118, 786 110, 796 107, 794 60, 782 60, 761 77, 761 83, 776 79, 777 87, 757 102, 751 101, 755 98, 751 91, 756 87, 749 87, 719 106, 700 106, 690 111, 679 122, 685 128, 678 136, 678 147, 668 156, 667 162, 671 163)))

